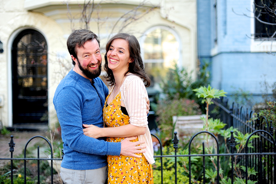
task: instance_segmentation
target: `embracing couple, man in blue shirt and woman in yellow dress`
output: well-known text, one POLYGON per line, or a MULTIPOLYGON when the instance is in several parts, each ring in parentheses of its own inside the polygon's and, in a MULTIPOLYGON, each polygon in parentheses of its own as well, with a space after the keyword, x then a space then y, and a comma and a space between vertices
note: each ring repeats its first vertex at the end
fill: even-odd
POLYGON ((153 183, 153 146, 148 128, 150 79, 140 45, 127 33, 106 45, 105 78, 96 34, 73 31, 67 48, 74 68, 59 83, 53 103, 61 126, 65 184, 153 183), (84 127, 84 129, 83 129, 84 127))

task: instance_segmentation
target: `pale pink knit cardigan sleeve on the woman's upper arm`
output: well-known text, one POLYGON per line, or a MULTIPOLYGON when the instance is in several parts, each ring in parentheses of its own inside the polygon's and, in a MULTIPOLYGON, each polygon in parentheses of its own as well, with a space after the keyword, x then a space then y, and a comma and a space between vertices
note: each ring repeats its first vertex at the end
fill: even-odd
POLYGON ((147 101, 148 93, 143 81, 138 77, 129 77, 123 88, 125 105, 130 124, 137 127, 146 127, 148 124, 147 101))

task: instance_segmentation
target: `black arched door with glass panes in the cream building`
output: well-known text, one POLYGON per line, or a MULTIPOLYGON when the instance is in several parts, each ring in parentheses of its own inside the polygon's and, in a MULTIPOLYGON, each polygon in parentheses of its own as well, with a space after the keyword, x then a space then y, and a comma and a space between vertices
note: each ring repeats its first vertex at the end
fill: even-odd
POLYGON ((25 29, 12 45, 13 124, 48 123, 47 81, 46 40, 25 29))

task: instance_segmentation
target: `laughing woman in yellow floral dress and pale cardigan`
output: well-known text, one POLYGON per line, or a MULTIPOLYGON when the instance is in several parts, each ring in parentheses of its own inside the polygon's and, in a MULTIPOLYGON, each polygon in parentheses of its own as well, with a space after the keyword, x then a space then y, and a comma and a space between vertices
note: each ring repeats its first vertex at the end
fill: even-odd
POLYGON ((108 155, 108 183, 153 183, 151 164, 155 161, 145 88, 150 85, 150 79, 145 73, 136 37, 127 33, 113 36, 106 45, 104 68, 107 72, 105 78, 111 85, 103 109, 105 127, 108 128, 94 127, 98 135, 85 134, 94 138, 107 137, 109 142, 120 142, 125 137, 138 135, 134 141, 145 141, 145 153, 136 154, 140 158, 108 155), (120 131, 117 131, 118 127, 120 131))

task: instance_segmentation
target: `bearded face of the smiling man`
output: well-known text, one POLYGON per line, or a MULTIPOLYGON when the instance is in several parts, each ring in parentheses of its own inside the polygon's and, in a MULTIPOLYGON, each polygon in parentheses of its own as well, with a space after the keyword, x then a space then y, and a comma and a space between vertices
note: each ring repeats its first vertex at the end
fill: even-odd
POLYGON ((81 72, 77 71, 77 73, 87 79, 94 79, 101 74, 102 69, 100 47, 96 39, 86 41, 83 46, 76 48, 78 58, 73 57, 73 55, 71 57, 78 64, 75 65, 76 69, 81 72))

